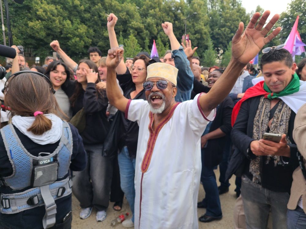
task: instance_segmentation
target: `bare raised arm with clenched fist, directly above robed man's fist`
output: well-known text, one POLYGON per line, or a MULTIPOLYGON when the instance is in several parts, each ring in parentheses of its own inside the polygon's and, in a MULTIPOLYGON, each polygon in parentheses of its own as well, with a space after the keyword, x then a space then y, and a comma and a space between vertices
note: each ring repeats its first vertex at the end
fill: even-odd
MULTIPOLYGON (((107 31, 108 31, 108 37, 110 39, 110 48, 116 48, 119 46, 117 41, 117 36, 115 32, 115 25, 117 23, 118 17, 114 15, 113 13, 110 13, 110 16, 107 17, 107 31)), ((116 68, 117 74, 124 74, 126 72, 126 66, 124 63, 123 58, 121 59, 120 63, 118 64, 118 67, 116 68)))

